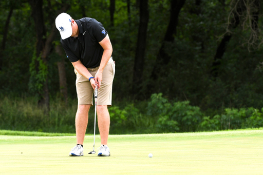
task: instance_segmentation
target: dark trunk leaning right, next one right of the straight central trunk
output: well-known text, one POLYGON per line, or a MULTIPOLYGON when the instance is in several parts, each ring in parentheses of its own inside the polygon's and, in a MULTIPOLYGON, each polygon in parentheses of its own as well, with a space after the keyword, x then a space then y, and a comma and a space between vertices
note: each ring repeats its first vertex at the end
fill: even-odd
POLYGON ((158 75, 159 75, 157 72, 158 67, 167 65, 170 62, 171 57, 164 51, 165 49, 164 45, 167 42, 172 43, 174 41, 174 38, 176 35, 176 27, 178 25, 179 13, 184 3, 185 3, 185 0, 172 0, 171 1, 170 22, 168 24, 162 46, 157 55, 157 60, 154 65, 154 69, 152 71, 151 79, 153 80, 157 80, 158 78, 158 75))

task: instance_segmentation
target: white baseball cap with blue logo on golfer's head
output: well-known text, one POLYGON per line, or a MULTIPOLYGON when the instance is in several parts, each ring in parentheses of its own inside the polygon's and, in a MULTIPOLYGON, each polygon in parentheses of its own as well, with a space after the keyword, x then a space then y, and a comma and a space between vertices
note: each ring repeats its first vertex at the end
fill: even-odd
POLYGON ((55 18, 55 27, 60 31, 62 40, 72 35, 71 17, 67 13, 61 13, 55 18))

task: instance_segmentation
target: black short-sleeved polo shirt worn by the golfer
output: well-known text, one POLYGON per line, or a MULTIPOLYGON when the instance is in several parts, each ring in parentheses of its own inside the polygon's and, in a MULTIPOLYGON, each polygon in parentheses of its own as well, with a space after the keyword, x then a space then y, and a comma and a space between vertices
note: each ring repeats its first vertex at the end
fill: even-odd
POLYGON ((86 68, 100 66, 103 48, 99 44, 107 35, 103 25, 94 18, 84 17, 76 20, 78 37, 60 40, 70 62, 81 61, 86 68))

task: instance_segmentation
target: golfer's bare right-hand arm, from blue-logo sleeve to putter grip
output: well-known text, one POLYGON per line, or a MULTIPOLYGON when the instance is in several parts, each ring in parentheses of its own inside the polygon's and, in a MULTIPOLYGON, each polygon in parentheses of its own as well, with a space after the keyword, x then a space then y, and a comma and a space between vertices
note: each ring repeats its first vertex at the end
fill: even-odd
POLYGON ((98 88, 101 87, 102 72, 103 72, 103 70, 104 70, 106 64, 108 63, 110 56, 112 54, 112 46, 111 46, 108 34, 101 42, 99 42, 99 44, 104 49, 104 51, 103 51, 102 58, 101 58, 100 68, 95 75, 95 82, 98 85, 98 88))

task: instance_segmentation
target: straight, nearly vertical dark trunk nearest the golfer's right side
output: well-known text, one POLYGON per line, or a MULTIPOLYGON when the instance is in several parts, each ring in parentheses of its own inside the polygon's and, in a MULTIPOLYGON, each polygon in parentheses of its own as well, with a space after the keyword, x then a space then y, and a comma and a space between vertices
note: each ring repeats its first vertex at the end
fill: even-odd
POLYGON ((142 85, 144 53, 146 47, 147 26, 149 21, 148 0, 140 2, 140 25, 134 62, 133 92, 138 93, 142 85))

